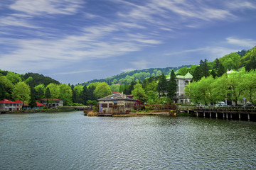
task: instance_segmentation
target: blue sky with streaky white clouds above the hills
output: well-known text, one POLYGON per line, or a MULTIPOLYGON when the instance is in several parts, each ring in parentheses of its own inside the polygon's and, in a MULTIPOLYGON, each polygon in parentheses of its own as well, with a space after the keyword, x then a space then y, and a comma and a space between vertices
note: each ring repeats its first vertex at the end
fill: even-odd
POLYGON ((255 0, 0 0, 0 69, 65 84, 255 45, 255 0))

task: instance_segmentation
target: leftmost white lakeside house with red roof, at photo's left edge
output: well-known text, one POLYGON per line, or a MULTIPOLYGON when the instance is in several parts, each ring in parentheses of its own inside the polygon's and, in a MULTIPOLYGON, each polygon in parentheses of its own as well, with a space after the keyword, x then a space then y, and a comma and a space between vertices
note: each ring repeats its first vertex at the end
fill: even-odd
POLYGON ((0 101, 0 112, 6 111, 22 111, 22 101, 9 101, 7 99, 0 101))

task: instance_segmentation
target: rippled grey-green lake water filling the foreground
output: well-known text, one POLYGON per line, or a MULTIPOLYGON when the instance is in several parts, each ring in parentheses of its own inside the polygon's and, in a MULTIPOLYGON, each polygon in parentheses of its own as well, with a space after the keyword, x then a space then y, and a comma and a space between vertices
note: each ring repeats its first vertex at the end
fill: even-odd
POLYGON ((0 169, 256 169, 256 123, 0 115, 0 169))

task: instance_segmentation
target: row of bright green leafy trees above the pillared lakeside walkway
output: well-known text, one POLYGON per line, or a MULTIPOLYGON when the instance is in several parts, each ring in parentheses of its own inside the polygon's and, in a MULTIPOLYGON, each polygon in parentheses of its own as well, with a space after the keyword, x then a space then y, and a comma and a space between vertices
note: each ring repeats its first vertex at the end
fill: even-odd
POLYGON ((186 95, 194 103, 218 103, 218 101, 234 101, 235 104, 243 98, 247 98, 253 104, 256 104, 256 71, 233 72, 223 74, 222 77, 213 79, 203 77, 199 81, 193 81, 186 86, 186 95))

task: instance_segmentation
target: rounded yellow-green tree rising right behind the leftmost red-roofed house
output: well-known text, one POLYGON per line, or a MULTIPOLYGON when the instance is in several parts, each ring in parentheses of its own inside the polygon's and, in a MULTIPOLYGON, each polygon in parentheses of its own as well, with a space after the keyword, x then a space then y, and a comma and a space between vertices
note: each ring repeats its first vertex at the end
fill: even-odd
POLYGON ((18 82, 14 85, 14 89, 12 91, 12 96, 14 100, 20 101, 29 101, 30 100, 31 89, 25 82, 18 82))

